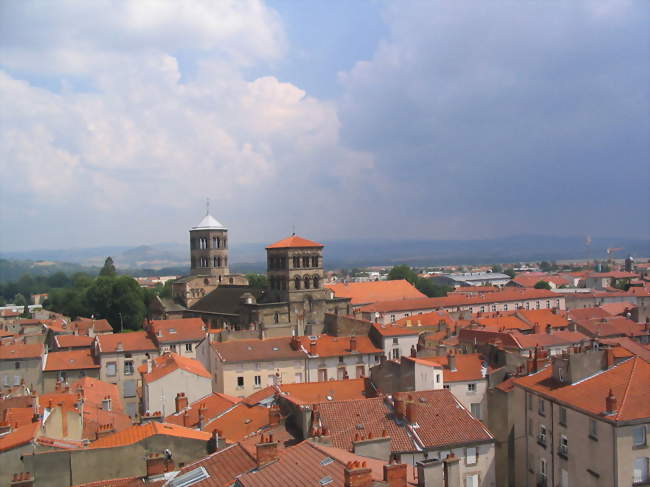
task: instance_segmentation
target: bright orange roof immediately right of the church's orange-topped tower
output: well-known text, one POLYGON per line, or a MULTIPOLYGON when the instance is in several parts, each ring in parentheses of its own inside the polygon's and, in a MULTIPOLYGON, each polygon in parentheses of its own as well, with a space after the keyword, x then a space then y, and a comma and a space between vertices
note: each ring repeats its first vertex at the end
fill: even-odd
POLYGON ((334 291, 337 298, 350 298, 354 305, 426 297, 405 279, 326 284, 325 287, 334 291))

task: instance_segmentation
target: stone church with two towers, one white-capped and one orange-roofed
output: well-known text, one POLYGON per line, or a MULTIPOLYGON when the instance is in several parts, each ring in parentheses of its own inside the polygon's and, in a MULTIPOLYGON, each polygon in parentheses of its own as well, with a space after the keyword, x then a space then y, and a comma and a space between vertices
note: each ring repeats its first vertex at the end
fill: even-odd
POLYGON ((159 299, 158 317, 200 317, 212 330, 237 336, 322 333, 325 313, 349 314, 349 298, 323 286, 323 244, 291 235, 266 247, 266 289, 249 286, 228 266, 228 229, 209 211, 190 229, 190 274, 159 299))

